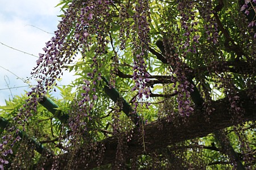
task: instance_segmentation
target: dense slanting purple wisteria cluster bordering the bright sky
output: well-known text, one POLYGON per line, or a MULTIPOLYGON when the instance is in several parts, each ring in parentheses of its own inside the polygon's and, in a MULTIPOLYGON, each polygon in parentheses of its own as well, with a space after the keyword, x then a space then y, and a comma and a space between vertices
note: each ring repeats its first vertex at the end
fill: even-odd
MULTIPOLYGON (((39 59, 36 61, 38 66, 31 73, 35 75, 35 78, 40 79, 40 84, 43 83, 46 90, 48 87, 55 85, 56 78, 60 78, 62 70, 67 68, 67 63, 73 61, 72 57, 74 54, 76 56, 76 51, 79 48, 82 49, 82 54, 85 54, 86 50, 90 50, 90 45, 92 45, 92 42, 90 42, 91 32, 98 32, 96 56, 105 51, 104 22, 102 20, 108 18, 106 10, 109 3, 109 1, 89 1, 83 2, 82 7, 80 3, 72 3, 69 6, 67 12, 65 12, 65 17, 58 25, 57 31, 55 31, 55 37, 46 42, 46 47, 43 48, 45 54, 39 53, 39 59), (94 18, 94 16, 101 16, 102 18, 94 18), (74 22, 76 24, 73 29, 74 22), (67 39, 69 36, 72 36, 72 39, 76 41, 67 39)), ((95 57, 93 61, 96 60, 95 57)), ((44 92, 44 88, 40 88, 40 90, 42 91, 39 92, 44 92)))

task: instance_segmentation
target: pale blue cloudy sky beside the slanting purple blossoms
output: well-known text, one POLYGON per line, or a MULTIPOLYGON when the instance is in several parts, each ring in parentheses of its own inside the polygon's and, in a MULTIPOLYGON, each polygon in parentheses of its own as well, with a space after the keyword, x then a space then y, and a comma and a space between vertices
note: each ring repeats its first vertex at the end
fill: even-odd
MULTIPOLYGON (((58 3, 59 0, 10 0, 0 6, 0 105, 30 91, 24 80, 30 77, 37 58, 29 54, 43 53, 45 42, 54 36, 51 33, 61 19, 57 15, 62 14, 60 7, 55 7, 58 3)), ((60 84, 69 84, 72 79, 72 73, 66 72, 60 84)))

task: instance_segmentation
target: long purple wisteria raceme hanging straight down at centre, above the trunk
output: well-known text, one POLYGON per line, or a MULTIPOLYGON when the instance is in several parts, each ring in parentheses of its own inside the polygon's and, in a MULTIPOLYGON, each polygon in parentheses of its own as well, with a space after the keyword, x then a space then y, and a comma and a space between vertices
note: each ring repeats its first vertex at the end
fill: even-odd
MULTIPOLYGON (((134 62, 133 62, 133 80, 135 82, 135 86, 131 89, 131 91, 138 90, 138 100, 142 101, 143 95, 148 99, 150 96, 150 87, 146 86, 146 83, 150 81, 148 77, 150 76, 147 71, 147 65, 145 62, 146 55, 148 50, 148 43, 150 42, 148 32, 150 22, 150 15, 148 12, 148 1, 139 0, 137 4, 135 4, 135 11, 133 15, 134 25, 132 28, 133 32, 133 44, 134 48, 134 62)), ((134 112, 137 112, 137 98, 133 99, 135 104, 134 112)), ((143 105, 143 103, 142 103, 143 105)), ((148 103, 146 102, 146 108, 148 108, 148 103)))

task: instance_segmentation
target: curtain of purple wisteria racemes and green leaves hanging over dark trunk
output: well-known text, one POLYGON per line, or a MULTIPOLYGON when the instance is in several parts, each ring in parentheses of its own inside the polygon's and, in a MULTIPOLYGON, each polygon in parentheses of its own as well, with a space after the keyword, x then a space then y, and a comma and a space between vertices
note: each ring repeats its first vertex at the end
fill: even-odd
MULTIPOLYGON (((133 0, 127 1, 127 3, 114 2, 112 0, 72 1, 69 3, 63 18, 61 18, 59 25, 57 25, 55 36, 46 42, 43 52, 39 53, 36 67, 31 72, 32 78, 35 78, 38 84, 27 93, 28 99, 25 101, 23 107, 19 109, 16 117, 13 118, 15 126, 6 129, 8 134, 2 137, 3 142, 0 143, 0 150, 2 152, 0 169, 3 169, 3 166, 9 163, 5 158, 7 155, 13 154, 13 146, 21 139, 19 136, 20 130, 26 130, 26 123, 30 121, 33 114, 36 114, 39 101, 48 92, 55 91, 54 87, 57 86, 56 80, 61 78, 65 69, 68 69, 68 64, 75 61, 76 57, 79 56, 78 53, 81 54, 85 61, 90 60, 91 63, 89 65, 89 73, 86 73, 83 82, 81 82, 82 84, 77 87, 79 92, 77 92, 77 97, 74 99, 75 103, 72 104, 71 110, 68 113, 68 129, 71 130, 71 137, 69 139, 74 149, 73 155, 75 155, 75 150, 79 148, 78 146, 81 145, 81 141, 89 138, 86 138, 85 134, 89 131, 88 129, 90 127, 88 127, 88 124, 90 121, 93 121, 93 109, 96 107, 96 102, 100 98, 97 87, 101 86, 104 71, 111 67, 109 88, 114 88, 115 74, 118 74, 119 71, 119 55, 125 52, 126 48, 131 49, 130 57, 133 58, 133 62, 129 63, 133 67, 133 74, 130 75, 133 80, 131 92, 137 94, 131 100, 131 104, 133 105, 132 114, 137 115, 139 113, 138 118, 140 122, 137 122, 137 125, 141 126, 143 148, 146 151, 143 108, 146 107, 148 109, 150 106, 148 101, 153 87, 152 84, 150 86, 152 76, 148 70, 150 70, 149 63, 151 62, 151 58, 148 52, 150 44, 152 44, 151 40, 159 36, 158 34, 163 36, 162 43, 164 50, 162 54, 155 53, 163 55, 162 57, 166 59, 166 64, 168 65, 167 73, 170 74, 170 82, 173 83, 172 86, 166 88, 168 91, 173 90, 174 94, 177 94, 176 110, 178 114, 174 114, 175 109, 170 111, 170 107, 166 107, 168 111, 165 111, 171 112, 167 113, 169 114, 168 116, 171 115, 171 120, 174 117, 187 118, 191 116, 195 109, 195 107, 192 107, 192 104, 196 104, 191 99, 192 93, 197 90, 196 85, 201 88, 200 95, 204 97, 202 105, 206 113, 210 115, 214 111, 211 105, 212 97, 209 92, 211 87, 207 86, 207 75, 200 76, 198 73, 195 73, 195 69, 190 68, 191 66, 195 66, 198 60, 201 60, 198 62, 201 66, 207 66, 205 69, 207 73, 214 74, 212 76, 214 85, 210 85, 218 88, 218 90, 224 89, 223 93, 229 99, 230 113, 237 113, 236 115, 238 117, 236 118, 242 116, 240 97, 237 95, 237 87, 233 85, 232 75, 217 71, 221 68, 228 72, 230 69, 224 63, 217 66, 220 61, 225 60, 224 54, 222 53, 225 49, 221 49, 221 43, 224 44, 225 48, 226 46, 230 47, 232 43, 232 45, 236 45, 237 43, 232 40, 228 31, 221 25, 220 18, 218 18, 217 14, 219 12, 218 8, 214 8, 213 2, 209 1, 177 1, 175 7, 179 15, 168 16, 170 13, 164 11, 166 12, 166 16, 164 17, 171 18, 168 21, 173 22, 171 23, 172 25, 170 26, 168 21, 166 25, 161 23, 159 25, 164 26, 158 28, 157 33, 152 33, 150 27, 159 27, 159 25, 151 26, 150 3, 151 1, 148 0, 133 0), (113 12, 113 8, 118 11, 118 19, 114 19, 114 15, 116 14, 113 12), (117 27, 114 24, 119 25, 117 27), (117 31, 118 36, 115 36, 115 39, 112 38, 114 28, 119 29, 117 31), (200 32, 202 28, 204 29, 203 33, 200 32), (151 35, 155 37, 150 37, 151 35), (225 36, 225 42, 221 41, 221 36, 225 36), (111 58, 112 63, 105 61, 105 54, 108 53, 109 46, 112 46, 112 50, 114 51, 114 56, 111 58), (115 51, 115 46, 117 46, 117 51, 115 51), (92 56, 87 55, 89 52, 92 53, 92 56), (188 65, 189 62, 192 64, 188 65), (193 78, 200 83, 194 84, 193 78)), ((163 4, 168 3, 164 2, 163 4)), ((253 35, 251 37, 256 38, 256 1, 245 0, 245 3, 240 7, 240 11, 243 11, 245 14, 244 18, 254 15, 253 19, 247 25, 248 30, 246 29, 244 31, 246 33, 244 34, 249 33, 250 36, 253 35)), ((253 46, 252 43, 250 46, 253 46)), ((243 50, 236 50, 234 48, 228 50, 228 52, 233 51, 237 54, 238 57, 234 58, 236 61, 247 57, 244 55, 243 50)), ((251 52, 251 56, 253 55, 255 56, 255 52, 251 52)), ((246 59, 253 63, 253 59, 251 58, 247 57, 246 59)), ((255 75, 255 73, 253 74, 255 75)), ((245 81, 247 83, 246 86, 249 88, 255 87, 253 78, 247 78, 245 81)), ((254 93, 249 93, 255 99, 254 93)), ((114 107, 113 135, 117 135, 122 130, 119 121, 119 112, 121 112, 122 107, 122 100, 120 99, 114 107)), ((241 134, 237 134, 238 137, 241 136, 241 134)), ((121 158, 117 158, 117 160, 120 160, 122 163, 120 165, 116 164, 115 166, 119 169, 125 164, 126 148, 122 149, 122 147, 126 147, 126 142, 130 142, 131 137, 132 135, 125 142, 121 140, 121 137, 118 138, 117 154, 121 155, 121 158)), ((242 141, 242 145, 243 149, 247 148, 251 150, 244 141, 242 141)), ((101 154, 103 154, 104 148, 105 146, 102 146, 101 154)), ((101 156, 98 157, 99 162, 101 162, 101 156)), ((251 163, 249 156, 246 159, 247 162, 251 163)))

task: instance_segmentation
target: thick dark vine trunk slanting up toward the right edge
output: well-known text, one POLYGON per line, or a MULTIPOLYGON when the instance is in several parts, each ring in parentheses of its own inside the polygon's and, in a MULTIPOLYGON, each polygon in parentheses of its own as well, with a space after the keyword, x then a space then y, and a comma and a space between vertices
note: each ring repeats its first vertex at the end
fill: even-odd
MULTIPOLYGON (((230 102, 228 99, 222 99, 212 103, 212 107, 215 110, 208 116, 209 121, 205 121, 204 111, 195 109, 193 115, 185 120, 186 122, 184 122, 184 118, 180 118, 174 124, 173 122, 168 122, 167 119, 164 118, 144 126, 146 132, 146 152, 154 152, 159 148, 164 148, 177 142, 204 137, 216 130, 241 124, 242 122, 256 120, 256 104, 254 101, 250 100, 244 91, 238 96, 240 96, 240 103, 243 110, 243 113, 240 116, 235 113, 230 113, 230 102), (235 117, 239 118, 234 119, 235 117)), ((139 131, 138 128, 135 128, 133 131, 133 138, 130 142, 127 142, 125 149, 126 158, 133 158, 133 156, 143 153, 141 131, 139 131)), ((122 135, 118 135, 118 137, 120 138, 122 135)), ((94 158, 90 158, 89 162, 86 160, 85 155, 87 155, 88 151, 92 151, 92 148, 81 147, 75 152, 73 157, 74 164, 72 167, 76 167, 75 169, 92 169, 98 166, 98 162, 101 162, 101 165, 114 163, 116 158, 115 153, 117 152, 118 146, 118 137, 111 137, 102 142, 95 143, 93 147, 95 154, 98 154, 100 149, 97 150, 97 148, 102 148, 102 145, 105 146, 104 154, 101 155, 100 159, 95 158, 95 156, 94 158)), ((127 135, 123 135, 122 141, 126 143, 127 135)), ((60 155, 60 169, 67 167, 70 158, 70 153, 60 155)), ((49 160, 45 169, 51 169, 51 163, 52 160, 49 160)))

